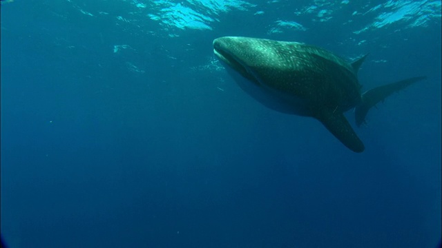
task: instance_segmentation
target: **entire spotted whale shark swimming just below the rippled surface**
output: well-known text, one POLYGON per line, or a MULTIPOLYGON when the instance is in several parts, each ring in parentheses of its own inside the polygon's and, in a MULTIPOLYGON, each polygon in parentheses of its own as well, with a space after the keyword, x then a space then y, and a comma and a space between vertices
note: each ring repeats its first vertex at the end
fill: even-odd
POLYGON ((425 79, 416 76, 361 93, 357 73, 367 55, 348 62, 323 48, 299 42, 220 37, 213 52, 253 99, 272 110, 316 118, 353 152, 365 146, 344 112, 354 109, 356 125, 387 96, 425 79))

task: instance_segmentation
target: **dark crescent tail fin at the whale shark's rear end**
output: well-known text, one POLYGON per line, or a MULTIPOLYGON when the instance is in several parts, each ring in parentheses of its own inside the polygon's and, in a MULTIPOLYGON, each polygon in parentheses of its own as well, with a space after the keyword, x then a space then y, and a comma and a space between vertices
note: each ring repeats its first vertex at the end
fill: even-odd
POLYGON ((375 87, 372 90, 367 90, 364 94, 362 94, 361 105, 357 106, 354 110, 356 125, 358 125, 359 127, 362 123, 365 123, 365 116, 367 115, 368 110, 380 101, 384 101, 387 96, 390 96, 394 92, 403 90, 405 89, 405 87, 426 78, 426 76, 416 76, 411 79, 405 79, 396 83, 390 83, 387 85, 375 87))

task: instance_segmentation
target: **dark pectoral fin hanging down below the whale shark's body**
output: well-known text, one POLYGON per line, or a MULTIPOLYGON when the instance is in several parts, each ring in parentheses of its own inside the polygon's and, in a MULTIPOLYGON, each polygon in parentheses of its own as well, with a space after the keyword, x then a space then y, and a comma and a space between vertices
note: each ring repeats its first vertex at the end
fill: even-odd
POLYGON ((321 110, 315 116, 327 130, 353 152, 363 152, 365 147, 344 114, 334 110, 321 110))

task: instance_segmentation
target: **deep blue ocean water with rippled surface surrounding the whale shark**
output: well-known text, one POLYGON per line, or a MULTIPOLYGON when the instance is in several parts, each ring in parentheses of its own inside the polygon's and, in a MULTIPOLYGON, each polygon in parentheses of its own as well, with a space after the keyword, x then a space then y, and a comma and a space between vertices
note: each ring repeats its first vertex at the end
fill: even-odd
POLYGON ((1 5, 8 247, 436 247, 441 1, 67 0, 1 5), (380 103, 349 151, 273 112, 213 55, 248 36, 369 57, 380 103))

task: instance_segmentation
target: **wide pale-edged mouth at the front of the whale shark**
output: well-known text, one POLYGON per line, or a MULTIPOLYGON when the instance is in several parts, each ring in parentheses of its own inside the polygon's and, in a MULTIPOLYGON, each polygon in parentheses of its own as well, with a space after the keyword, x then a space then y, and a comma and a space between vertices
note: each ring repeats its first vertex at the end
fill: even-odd
POLYGON ((237 56, 233 55, 228 50, 223 49, 222 44, 216 39, 213 41, 213 53, 218 56, 218 59, 229 65, 233 70, 239 72, 246 79, 256 83, 256 85, 260 85, 259 80, 256 79, 256 76, 253 75, 249 67, 244 65, 237 56))

